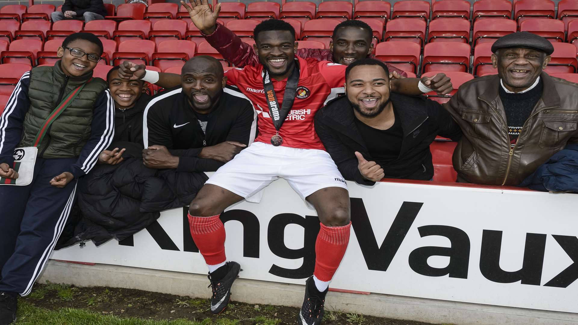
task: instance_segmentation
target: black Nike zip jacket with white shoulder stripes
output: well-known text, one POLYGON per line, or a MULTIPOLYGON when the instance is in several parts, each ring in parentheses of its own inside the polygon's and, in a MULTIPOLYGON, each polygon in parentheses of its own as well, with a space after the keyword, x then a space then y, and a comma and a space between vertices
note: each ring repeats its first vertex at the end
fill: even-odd
POLYGON ((224 165, 197 157, 203 147, 225 141, 245 145, 254 141, 257 113, 243 94, 224 88, 217 108, 209 115, 205 134, 182 91, 182 87, 171 88, 153 97, 143 119, 144 147, 166 146, 173 156, 179 157, 178 172, 214 172, 224 165))

